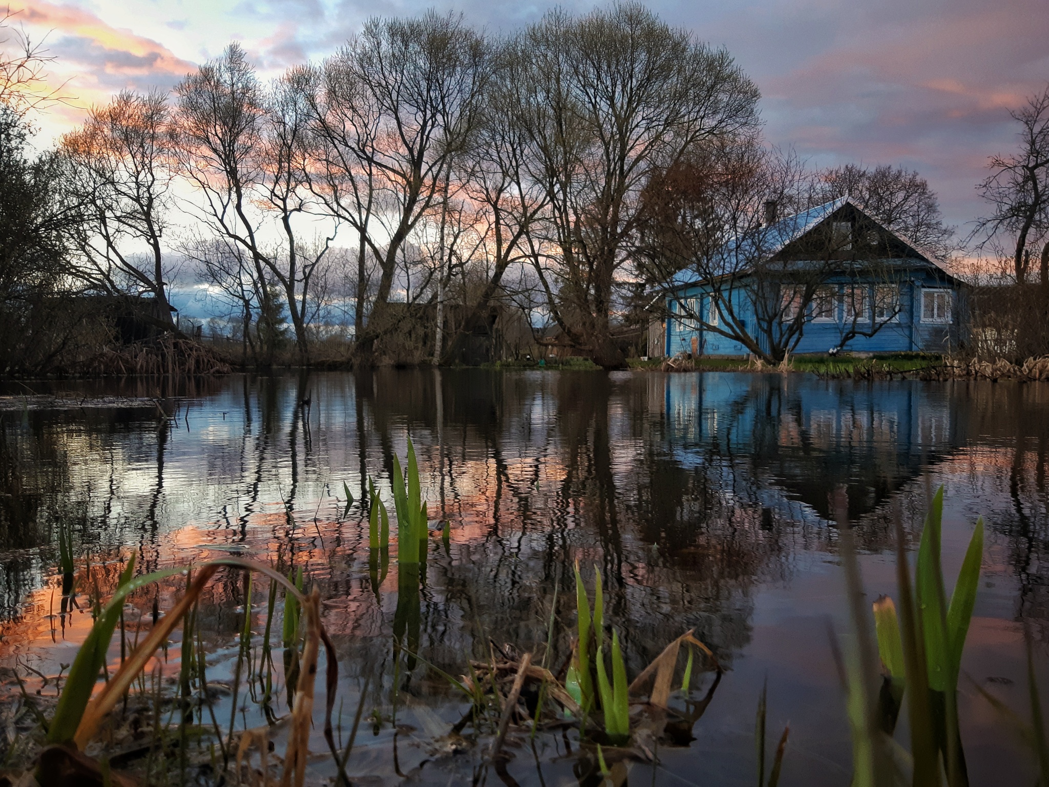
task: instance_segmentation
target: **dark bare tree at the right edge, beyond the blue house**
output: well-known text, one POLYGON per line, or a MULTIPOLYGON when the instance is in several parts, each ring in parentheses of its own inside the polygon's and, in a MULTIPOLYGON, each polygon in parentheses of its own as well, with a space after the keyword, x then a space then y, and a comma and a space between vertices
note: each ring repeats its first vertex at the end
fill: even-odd
POLYGON ((978 188, 992 212, 977 221, 970 240, 980 238, 982 247, 1008 238, 1005 242, 1012 247, 1009 256, 1018 284, 1023 284, 1030 273, 1030 247, 1045 241, 1040 270, 1046 284, 1049 282, 1049 85, 1009 114, 1020 124, 1019 150, 991 157, 988 164, 991 174, 978 188))

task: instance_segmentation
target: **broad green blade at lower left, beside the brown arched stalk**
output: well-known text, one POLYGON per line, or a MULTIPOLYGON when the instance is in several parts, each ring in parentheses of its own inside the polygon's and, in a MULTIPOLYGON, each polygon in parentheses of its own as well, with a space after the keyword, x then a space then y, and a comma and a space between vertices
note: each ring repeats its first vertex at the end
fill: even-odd
POLYGON ((102 610, 91 626, 90 633, 84 640, 84 644, 77 651, 72 665, 69 667, 69 675, 62 688, 62 696, 59 698, 58 707, 55 708, 55 718, 47 730, 47 740, 50 743, 66 743, 77 735, 77 727, 84 716, 84 708, 87 707, 94 690, 94 683, 99 678, 99 672, 106 662, 106 654, 109 651, 109 641, 113 638, 113 631, 121 617, 121 609, 128 593, 146 583, 152 581, 150 577, 156 578, 156 574, 173 576, 181 573, 181 569, 171 569, 168 572, 156 572, 155 574, 140 577, 138 581, 132 582, 131 575, 134 573, 134 555, 128 560, 128 565, 121 573, 120 582, 116 586, 116 593, 109 603, 102 610))

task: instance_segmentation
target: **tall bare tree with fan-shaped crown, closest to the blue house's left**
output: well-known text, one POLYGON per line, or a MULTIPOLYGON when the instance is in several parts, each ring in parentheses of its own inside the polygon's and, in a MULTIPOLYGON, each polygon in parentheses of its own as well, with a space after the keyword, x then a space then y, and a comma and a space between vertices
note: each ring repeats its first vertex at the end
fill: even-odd
POLYGON ((575 18, 549 12, 514 42, 505 84, 550 210, 536 271, 560 328, 595 362, 621 366, 613 336, 640 194, 654 169, 701 141, 756 123, 757 88, 725 50, 639 4, 575 18))

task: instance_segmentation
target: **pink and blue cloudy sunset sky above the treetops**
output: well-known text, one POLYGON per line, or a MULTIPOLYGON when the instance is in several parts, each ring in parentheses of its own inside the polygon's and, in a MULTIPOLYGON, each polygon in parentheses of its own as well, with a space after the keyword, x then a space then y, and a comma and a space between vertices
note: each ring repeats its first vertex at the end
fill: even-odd
MULTIPOLYGON (((654 0, 667 22, 724 46, 757 83, 768 140, 816 166, 918 170, 961 233, 984 210, 988 156, 1015 146, 1008 111, 1049 82, 1047 0, 654 0)), ((320 60, 370 16, 462 12, 491 33, 548 3, 508 0, 13 0, 14 21, 56 58, 67 101, 45 139, 122 88, 170 88, 241 42, 263 75, 320 60)), ((586 12, 592 2, 564 7, 586 12)))

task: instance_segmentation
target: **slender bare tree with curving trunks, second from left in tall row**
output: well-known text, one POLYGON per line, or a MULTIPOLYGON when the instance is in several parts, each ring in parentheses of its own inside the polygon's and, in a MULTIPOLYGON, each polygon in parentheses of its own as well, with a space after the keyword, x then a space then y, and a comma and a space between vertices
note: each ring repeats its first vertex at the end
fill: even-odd
POLYGON ((243 49, 231 44, 176 88, 183 172, 202 196, 204 218, 248 256, 262 282, 262 359, 272 363, 286 305, 299 357, 308 363, 309 283, 331 238, 299 241, 296 217, 308 208, 303 189, 308 105, 293 70, 267 94, 243 49), (278 227, 270 227, 276 218, 278 227))

